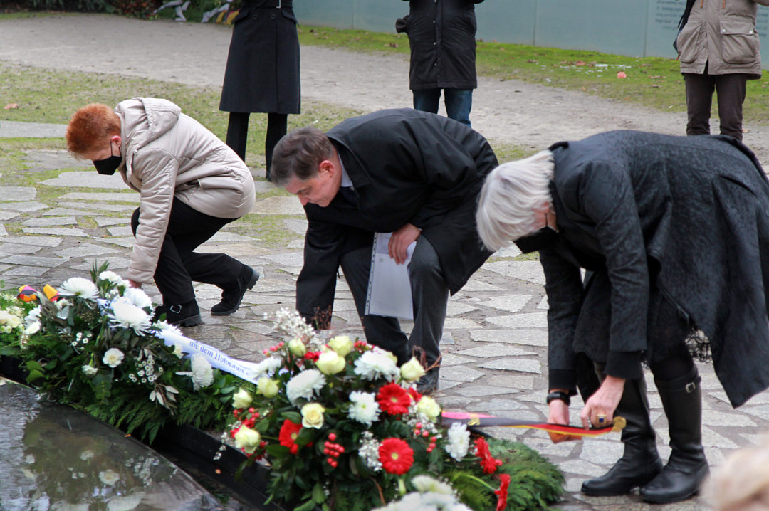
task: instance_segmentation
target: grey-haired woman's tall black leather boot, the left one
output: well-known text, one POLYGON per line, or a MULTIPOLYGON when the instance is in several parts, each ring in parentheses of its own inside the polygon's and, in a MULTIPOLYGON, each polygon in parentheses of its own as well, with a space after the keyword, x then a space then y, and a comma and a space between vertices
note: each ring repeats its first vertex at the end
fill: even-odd
POLYGON ((624 453, 603 476, 582 483, 585 495, 625 495, 637 486, 644 486, 662 470, 643 377, 625 381, 614 416, 623 416, 628 422, 622 430, 624 453))

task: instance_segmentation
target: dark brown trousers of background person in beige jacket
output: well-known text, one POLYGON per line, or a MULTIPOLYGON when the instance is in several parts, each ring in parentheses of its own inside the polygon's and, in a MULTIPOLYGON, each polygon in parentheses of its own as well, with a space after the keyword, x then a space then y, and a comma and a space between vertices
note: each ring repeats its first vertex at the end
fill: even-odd
POLYGON ((745 101, 747 75, 704 75, 684 73, 686 83, 686 109, 689 121, 686 134, 711 133, 711 105, 713 91, 717 94, 718 117, 721 119, 721 134, 742 140, 742 103, 745 101))

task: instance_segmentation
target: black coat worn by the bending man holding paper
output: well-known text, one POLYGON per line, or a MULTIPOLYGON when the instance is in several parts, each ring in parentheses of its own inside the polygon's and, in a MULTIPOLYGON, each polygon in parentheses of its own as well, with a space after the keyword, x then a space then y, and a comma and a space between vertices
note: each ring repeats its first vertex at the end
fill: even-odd
POLYGON ((312 317, 334 303, 342 254, 371 247, 374 232, 411 223, 438 258, 451 294, 491 254, 475 225, 478 193, 497 158, 485 138, 464 124, 400 108, 348 119, 327 133, 357 195, 305 205, 305 264, 297 310, 312 317))

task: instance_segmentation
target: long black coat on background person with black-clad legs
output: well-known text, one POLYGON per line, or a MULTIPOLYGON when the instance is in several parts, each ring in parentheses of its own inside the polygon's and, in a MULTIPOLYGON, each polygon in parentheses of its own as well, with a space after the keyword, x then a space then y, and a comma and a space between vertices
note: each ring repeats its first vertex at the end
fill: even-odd
POLYGON ((299 39, 291 3, 242 0, 232 28, 219 110, 299 113, 299 39))

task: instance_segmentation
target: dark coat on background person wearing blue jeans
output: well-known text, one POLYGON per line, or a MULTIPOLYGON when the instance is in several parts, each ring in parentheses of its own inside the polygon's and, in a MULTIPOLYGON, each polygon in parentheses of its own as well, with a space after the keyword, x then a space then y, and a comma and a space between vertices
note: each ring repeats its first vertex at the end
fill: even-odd
POLYGON ((483 0, 410 0, 398 19, 411 45, 412 90, 478 87, 475 75, 475 4, 483 0))

